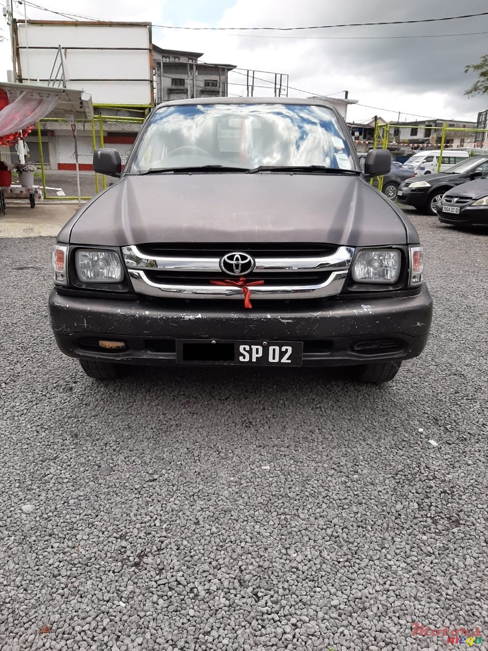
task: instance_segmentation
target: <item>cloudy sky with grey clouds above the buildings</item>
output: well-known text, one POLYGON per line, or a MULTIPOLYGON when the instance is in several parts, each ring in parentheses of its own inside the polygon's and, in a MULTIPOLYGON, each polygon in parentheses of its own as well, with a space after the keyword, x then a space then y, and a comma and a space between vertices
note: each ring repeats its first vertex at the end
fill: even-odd
MULTIPOLYGON (((6 0, 1 0, 5 5, 6 0)), ((487 0, 14 0, 16 18, 66 20, 58 12, 75 12, 99 20, 151 21, 153 25, 186 27, 295 27, 389 20, 441 18, 488 11, 487 0), (69 7, 69 8, 68 8, 69 7), (116 7, 116 15, 113 10, 116 7)), ((0 16, 0 20, 2 20, 0 16)), ((8 26, 2 23, 0 78, 11 67, 8 26)), ((365 120, 378 114, 386 120, 418 116, 476 120, 488 96, 467 98, 475 79, 465 64, 488 54, 488 16, 413 25, 338 27, 295 32, 216 32, 153 27, 153 41, 163 47, 204 52, 204 61, 232 63, 286 73, 290 96, 334 94, 359 100, 348 118, 365 120), (455 35, 438 36, 432 35, 455 35), (251 36, 252 35, 252 36, 251 36), (416 36, 417 38, 398 38, 416 36), (418 38, 428 36, 427 38, 418 38), (378 38, 381 37, 381 38, 378 38), (375 108, 372 108, 375 107, 375 108)), ((271 75, 260 74, 264 79, 271 75)), ((245 94, 245 76, 231 74, 229 92, 245 94)), ((265 82, 256 81, 262 85, 265 82)), ((271 89, 254 94, 272 95, 271 89)))

